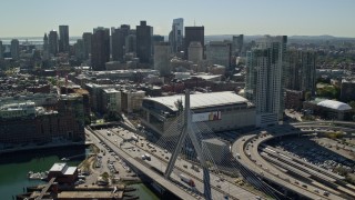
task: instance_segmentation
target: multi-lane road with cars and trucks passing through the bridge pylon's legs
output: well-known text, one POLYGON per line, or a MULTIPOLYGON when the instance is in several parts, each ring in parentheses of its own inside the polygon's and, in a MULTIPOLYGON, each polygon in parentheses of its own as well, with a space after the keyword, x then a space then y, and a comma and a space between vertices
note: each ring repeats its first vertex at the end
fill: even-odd
MULTIPOLYGON (((146 146, 148 141, 142 137, 139 137, 138 142, 134 142, 134 141, 123 142, 124 139, 126 140, 130 139, 131 136, 133 136, 133 133, 122 128, 111 129, 110 130, 111 136, 108 136, 106 131, 108 130, 97 130, 100 139, 106 142, 108 146, 110 146, 110 148, 112 148, 114 151, 115 151, 114 148, 120 147, 119 149, 121 151, 124 151, 126 154, 129 154, 131 158, 135 160, 141 159, 142 154, 149 153, 151 154, 151 160, 150 161, 141 160, 140 162, 143 161, 159 171, 162 171, 162 172, 165 171, 168 161, 171 157, 170 152, 166 152, 164 149, 160 149, 154 144, 150 144, 151 148, 149 148, 146 146), (152 152, 153 148, 156 150, 156 152, 152 152), (169 159, 166 159, 165 157, 168 157, 169 159)), ((203 191, 203 182, 202 182, 203 173, 202 173, 202 170, 200 170, 200 172, 194 171, 193 169, 191 169, 191 166, 192 163, 183 159, 178 159, 174 171, 171 176, 171 180, 173 182, 176 182, 180 186, 184 186, 183 188, 185 191, 187 190, 187 192, 199 198, 203 191), (186 166, 187 168, 185 168, 184 166, 186 166), (194 180, 196 187, 193 190, 195 191, 189 189, 186 183, 181 181, 181 179, 179 178, 180 173, 191 177, 194 180)), ((229 181, 221 181, 221 178, 214 173, 210 173, 210 178, 211 178, 213 199, 222 199, 225 194, 227 194, 230 199, 256 199, 257 198, 257 194, 254 194, 245 189, 242 189, 236 184, 233 184, 229 181)))

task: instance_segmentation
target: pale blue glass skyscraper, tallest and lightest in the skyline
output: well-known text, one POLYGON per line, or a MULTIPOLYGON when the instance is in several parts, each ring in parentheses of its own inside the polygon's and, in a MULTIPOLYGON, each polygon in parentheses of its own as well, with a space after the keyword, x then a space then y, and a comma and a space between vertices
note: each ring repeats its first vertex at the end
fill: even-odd
POLYGON ((173 20, 172 30, 169 34, 169 42, 173 53, 183 50, 183 38, 184 38, 184 19, 178 18, 173 20))

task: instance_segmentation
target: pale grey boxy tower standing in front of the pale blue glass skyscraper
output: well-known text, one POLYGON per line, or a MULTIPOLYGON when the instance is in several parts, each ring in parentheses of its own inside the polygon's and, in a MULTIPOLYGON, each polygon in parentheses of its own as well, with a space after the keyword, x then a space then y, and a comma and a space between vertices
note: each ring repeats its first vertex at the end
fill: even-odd
POLYGON ((158 70, 162 77, 171 73, 169 42, 154 44, 154 69, 158 70))

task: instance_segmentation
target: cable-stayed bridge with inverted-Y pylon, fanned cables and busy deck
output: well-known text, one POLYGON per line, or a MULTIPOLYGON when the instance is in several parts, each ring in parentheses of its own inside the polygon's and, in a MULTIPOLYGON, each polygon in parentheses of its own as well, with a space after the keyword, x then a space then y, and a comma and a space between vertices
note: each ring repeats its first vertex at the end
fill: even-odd
MULTIPOLYGON (((230 154, 213 152, 202 141, 216 136, 204 123, 191 121, 189 91, 184 112, 154 144, 140 138, 126 141, 129 131, 111 129, 91 130, 102 142, 120 156, 134 171, 153 180, 181 199, 258 199, 260 196, 277 199, 273 190, 254 173, 241 170, 230 154), (134 151, 133 151, 134 150, 134 151), (142 159, 149 154, 150 159, 142 159), (217 157, 225 157, 215 161, 217 157), (252 180, 258 191, 235 183, 235 177, 252 180)), ((133 133, 131 133, 133 136, 133 133)), ((247 182, 247 180, 245 180, 247 182)))

